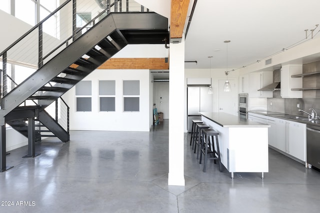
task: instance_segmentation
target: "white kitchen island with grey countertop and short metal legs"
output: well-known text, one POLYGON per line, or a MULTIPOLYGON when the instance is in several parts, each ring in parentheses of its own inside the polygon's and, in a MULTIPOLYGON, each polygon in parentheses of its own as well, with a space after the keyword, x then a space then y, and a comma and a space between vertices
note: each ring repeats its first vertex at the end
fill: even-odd
POLYGON ((219 133, 220 158, 231 173, 268 172, 268 127, 227 113, 200 113, 203 123, 219 133))

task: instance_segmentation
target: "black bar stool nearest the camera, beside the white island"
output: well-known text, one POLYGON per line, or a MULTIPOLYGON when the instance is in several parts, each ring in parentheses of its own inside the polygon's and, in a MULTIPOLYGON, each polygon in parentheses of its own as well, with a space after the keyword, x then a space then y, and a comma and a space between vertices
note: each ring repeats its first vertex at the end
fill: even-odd
POLYGON ((213 129, 203 129, 202 135, 203 136, 202 136, 201 146, 200 146, 201 150, 200 150, 199 164, 201 164, 202 154, 204 154, 203 172, 205 172, 207 159, 213 159, 214 164, 216 163, 215 161, 218 160, 219 170, 220 172, 222 172, 222 164, 220 159, 220 150, 219 150, 219 142, 218 142, 219 133, 214 131, 213 129), (210 143, 210 137, 211 137, 212 147, 210 143), (213 138, 215 138, 216 146, 214 145, 213 138), (210 157, 208 157, 208 155, 210 155, 210 157))

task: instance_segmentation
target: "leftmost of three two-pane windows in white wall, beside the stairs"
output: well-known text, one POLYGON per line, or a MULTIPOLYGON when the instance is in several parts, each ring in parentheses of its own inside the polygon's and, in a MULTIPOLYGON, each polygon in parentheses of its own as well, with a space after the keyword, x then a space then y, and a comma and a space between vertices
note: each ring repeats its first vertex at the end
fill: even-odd
POLYGON ((77 112, 91 112, 91 90, 91 81, 80 81, 75 85, 77 112))

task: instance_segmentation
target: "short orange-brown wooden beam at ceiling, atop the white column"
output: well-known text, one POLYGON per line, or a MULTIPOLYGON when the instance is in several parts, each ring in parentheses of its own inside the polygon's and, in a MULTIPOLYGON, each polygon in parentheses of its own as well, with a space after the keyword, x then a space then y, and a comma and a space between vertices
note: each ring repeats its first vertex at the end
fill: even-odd
POLYGON ((171 0, 170 38, 182 38, 190 0, 171 0))

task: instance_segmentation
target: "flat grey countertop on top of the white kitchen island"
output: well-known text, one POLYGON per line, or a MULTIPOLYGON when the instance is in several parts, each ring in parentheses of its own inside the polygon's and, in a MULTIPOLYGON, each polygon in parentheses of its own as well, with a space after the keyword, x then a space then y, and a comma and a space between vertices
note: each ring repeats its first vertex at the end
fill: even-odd
POLYGON ((224 112, 200 112, 200 115, 221 127, 270 127, 267 124, 250 121, 224 112))

